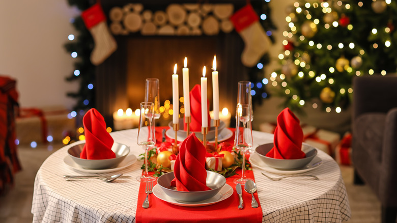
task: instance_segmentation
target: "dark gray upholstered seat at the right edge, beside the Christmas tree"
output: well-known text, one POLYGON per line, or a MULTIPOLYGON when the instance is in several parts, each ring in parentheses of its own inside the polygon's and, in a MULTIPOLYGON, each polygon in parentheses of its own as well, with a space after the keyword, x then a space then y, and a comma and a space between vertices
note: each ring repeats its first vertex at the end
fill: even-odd
POLYGON ((382 205, 382 222, 397 216, 397 76, 353 80, 354 183, 366 183, 382 205))

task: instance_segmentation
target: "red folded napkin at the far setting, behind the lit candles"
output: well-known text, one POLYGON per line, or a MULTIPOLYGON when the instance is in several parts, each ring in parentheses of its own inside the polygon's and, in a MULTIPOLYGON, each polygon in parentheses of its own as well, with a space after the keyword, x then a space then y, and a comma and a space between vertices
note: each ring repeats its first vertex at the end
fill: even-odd
MULTIPOLYGON (((189 93, 190 96, 190 131, 201 132, 201 86, 195 85, 189 93)), ((211 117, 209 110, 209 101, 207 99, 208 127, 210 127, 211 117)), ((186 131, 186 122, 183 119, 183 129, 186 131)))

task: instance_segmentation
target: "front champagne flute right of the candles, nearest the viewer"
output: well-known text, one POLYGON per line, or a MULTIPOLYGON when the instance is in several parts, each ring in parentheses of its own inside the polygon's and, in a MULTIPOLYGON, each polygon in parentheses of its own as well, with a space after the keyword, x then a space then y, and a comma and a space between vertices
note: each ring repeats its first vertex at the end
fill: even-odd
POLYGON ((234 146, 243 151, 243 164, 241 178, 235 179, 234 183, 244 185, 247 180, 252 180, 245 176, 245 152, 252 148, 252 128, 251 128, 251 106, 249 104, 238 104, 236 108, 236 133, 234 146))

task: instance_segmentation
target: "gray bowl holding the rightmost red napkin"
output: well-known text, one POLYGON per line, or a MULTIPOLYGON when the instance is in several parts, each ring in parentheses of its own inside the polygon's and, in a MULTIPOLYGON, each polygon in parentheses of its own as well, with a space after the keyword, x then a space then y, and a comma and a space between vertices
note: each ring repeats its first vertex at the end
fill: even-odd
POLYGON ((302 144, 302 151, 306 154, 305 158, 301 159, 276 159, 267 157, 266 154, 273 148, 273 143, 268 143, 264 145, 260 145, 255 149, 255 152, 259 155, 259 157, 266 164, 271 166, 272 168, 281 169, 281 170, 292 170, 298 169, 302 166, 307 165, 316 155, 317 149, 308 145, 302 144))

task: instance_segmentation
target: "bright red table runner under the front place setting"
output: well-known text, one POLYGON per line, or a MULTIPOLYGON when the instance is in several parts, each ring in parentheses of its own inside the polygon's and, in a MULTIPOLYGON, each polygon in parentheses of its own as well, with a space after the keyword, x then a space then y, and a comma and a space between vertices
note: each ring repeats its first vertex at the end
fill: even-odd
MULTIPOLYGON (((163 128, 156 127, 156 132, 161 132, 163 128)), ((160 137, 156 138, 161 139, 160 137)), ((167 138, 167 141, 170 139, 167 138)), ((233 137, 229 139, 233 144, 233 137)), ((159 142, 159 141, 157 141, 159 142)), ((161 141, 160 141, 161 142, 161 141)), ((148 209, 142 207, 146 199, 145 183, 141 183, 139 187, 138 203, 136 208, 137 223, 140 222, 237 222, 242 220, 245 222, 262 222, 262 209, 259 203, 258 193, 254 193, 259 207, 251 207, 251 194, 244 191, 243 187, 243 200, 244 208, 238 209, 239 196, 236 192, 236 185, 233 180, 241 177, 241 169, 236 172, 238 175, 226 178, 226 183, 233 187, 233 194, 228 199, 219 203, 203 206, 203 207, 183 207, 169 204, 162 201, 154 194, 149 195, 150 206, 148 209)), ((252 171, 246 171, 246 176, 254 179, 252 171)), ((156 182, 154 183, 156 184, 156 182)))

